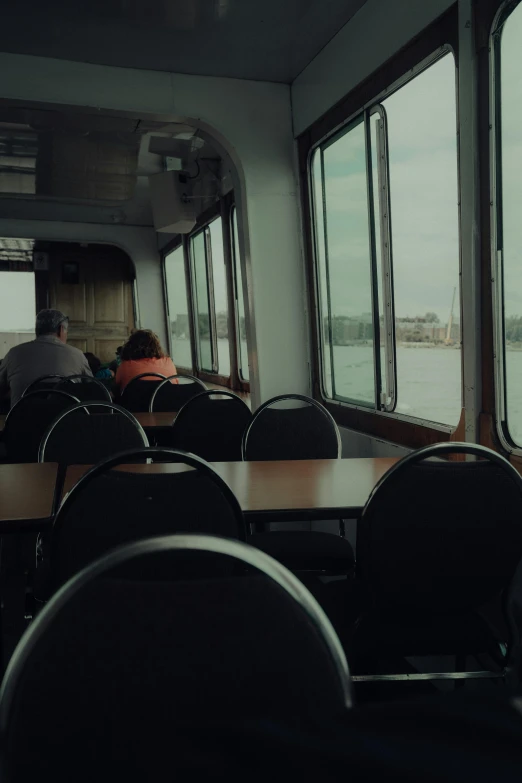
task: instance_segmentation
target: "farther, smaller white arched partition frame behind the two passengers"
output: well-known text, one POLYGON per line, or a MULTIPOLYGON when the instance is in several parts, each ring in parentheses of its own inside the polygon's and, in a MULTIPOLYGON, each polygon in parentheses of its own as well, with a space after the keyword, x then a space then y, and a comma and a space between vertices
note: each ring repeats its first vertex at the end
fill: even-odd
POLYGON ((162 344, 168 345, 163 307, 163 279, 154 229, 0 218, 0 236, 62 242, 96 242, 121 247, 132 260, 136 271, 136 325, 152 329, 159 335, 162 344))

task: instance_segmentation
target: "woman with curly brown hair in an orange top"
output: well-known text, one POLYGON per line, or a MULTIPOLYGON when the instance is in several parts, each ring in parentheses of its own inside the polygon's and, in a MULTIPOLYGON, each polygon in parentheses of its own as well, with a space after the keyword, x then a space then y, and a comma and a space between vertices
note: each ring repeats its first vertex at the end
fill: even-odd
MULTIPOLYGON (((168 377, 176 375, 177 370, 170 356, 164 353, 158 335, 150 329, 136 329, 122 348, 121 364, 116 370, 116 386, 122 392, 133 378, 147 372, 168 377)), ((154 381, 157 378, 142 380, 154 381)))

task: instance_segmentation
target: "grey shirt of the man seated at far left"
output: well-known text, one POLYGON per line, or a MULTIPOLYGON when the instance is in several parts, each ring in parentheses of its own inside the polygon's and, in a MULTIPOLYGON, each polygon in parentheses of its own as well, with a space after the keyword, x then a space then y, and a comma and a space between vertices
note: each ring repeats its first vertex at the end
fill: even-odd
POLYGON ((0 397, 11 390, 11 407, 43 375, 92 375, 83 353, 51 334, 16 345, 0 366, 0 397))

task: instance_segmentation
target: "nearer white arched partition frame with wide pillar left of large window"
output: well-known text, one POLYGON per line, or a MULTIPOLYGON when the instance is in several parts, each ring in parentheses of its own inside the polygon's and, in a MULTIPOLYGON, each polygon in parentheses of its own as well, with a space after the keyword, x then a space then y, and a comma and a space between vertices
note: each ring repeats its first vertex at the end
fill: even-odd
MULTIPOLYGON (((221 145, 235 167, 253 404, 283 392, 309 393, 305 271, 287 85, 1 53, 0 97, 162 115, 196 123, 215 146, 221 145)), ((136 251, 125 249, 136 260, 136 251)), ((164 333, 157 251, 150 258, 150 286, 147 279, 145 288, 143 275, 138 276, 141 317, 145 322, 150 315, 149 324, 161 321, 164 333)))

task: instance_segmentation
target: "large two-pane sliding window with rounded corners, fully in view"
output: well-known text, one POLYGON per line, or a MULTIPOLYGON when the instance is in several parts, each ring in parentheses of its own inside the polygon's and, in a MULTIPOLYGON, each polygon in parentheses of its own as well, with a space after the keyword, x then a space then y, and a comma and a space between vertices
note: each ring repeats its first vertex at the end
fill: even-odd
POLYGON ((438 59, 312 158, 326 397, 461 412, 455 65, 438 59))

